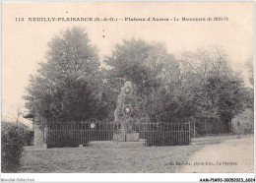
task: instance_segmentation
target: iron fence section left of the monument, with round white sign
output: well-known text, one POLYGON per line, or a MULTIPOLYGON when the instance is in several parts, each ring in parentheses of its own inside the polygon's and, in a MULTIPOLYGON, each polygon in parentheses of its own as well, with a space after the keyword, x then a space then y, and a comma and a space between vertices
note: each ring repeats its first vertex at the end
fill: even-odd
POLYGON ((49 147, 75 147, 88 145, 90 141, 112 141, 112 123, 69 122, 48 123, 46 144, 49 147))

